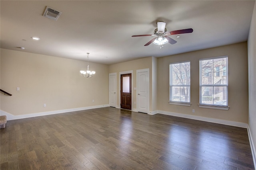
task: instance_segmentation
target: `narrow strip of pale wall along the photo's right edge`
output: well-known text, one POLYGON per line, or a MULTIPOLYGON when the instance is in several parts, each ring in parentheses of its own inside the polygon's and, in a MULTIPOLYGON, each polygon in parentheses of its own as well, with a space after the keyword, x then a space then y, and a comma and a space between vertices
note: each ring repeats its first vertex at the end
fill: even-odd
MULTIPOLYGON (((256 156, 256 3, 248 36, 249 129, 256 156)), ((254 157, 255 158, 255 157, 254 157)), ((255 160, 256 161, 256 160, 255 160)), ((256 162, 254 162, 256 167, 256 162)))

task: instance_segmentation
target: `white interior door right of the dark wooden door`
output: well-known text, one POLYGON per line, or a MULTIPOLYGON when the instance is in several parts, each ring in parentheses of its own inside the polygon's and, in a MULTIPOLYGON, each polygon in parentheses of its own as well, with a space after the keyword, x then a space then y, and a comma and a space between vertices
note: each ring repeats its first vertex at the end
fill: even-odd
POLYGON ((149 105, 149 71, 138 71, 137 72, 137 101, 138 101, 138 111, 142 113, 148 113, 149 105))

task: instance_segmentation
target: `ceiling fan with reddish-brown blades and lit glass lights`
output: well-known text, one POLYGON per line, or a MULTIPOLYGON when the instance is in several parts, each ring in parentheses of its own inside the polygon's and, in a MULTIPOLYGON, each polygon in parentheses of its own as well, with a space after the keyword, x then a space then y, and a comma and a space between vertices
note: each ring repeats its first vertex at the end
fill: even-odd
POLYGON ((157 28, 154 30, 154 34, 144 34, 144 35, 132 35, 132 37, 143 37, 143 36, 156 36, 152 40, 150 40, 148 43, 146 43, 144 46, 150 45, 151 43, 154 43, 156 45, 164 45, 166 43, 175 44, 177 41, 172 39, 171 37, 168 37, 168 35, 175 35, 175 34, 184 34, 184 33, 192 33, 193 29, 180 29, 176 31, 167 31, 165 27, 166 23, 159 21, 157 22, 157 28))

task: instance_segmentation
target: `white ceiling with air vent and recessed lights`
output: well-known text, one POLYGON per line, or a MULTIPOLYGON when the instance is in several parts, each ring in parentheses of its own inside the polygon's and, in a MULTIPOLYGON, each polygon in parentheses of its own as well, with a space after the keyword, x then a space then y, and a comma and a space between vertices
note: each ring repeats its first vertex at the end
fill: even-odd
POLYGON ((0 1, 0 47, 56 57, 114 64, 247 41, 255 0, 228 1, 0 1), (46 6, 62 12, 43 16, 46 6), (194 29, 162 49, 153 37, 156 21, 168 31, 194 29), (34 41, 30 37, 40 37, 34 41), (26 41, 24 41, 24 40, 26 41), (25 47, 22 50, 18 47, 25 47))

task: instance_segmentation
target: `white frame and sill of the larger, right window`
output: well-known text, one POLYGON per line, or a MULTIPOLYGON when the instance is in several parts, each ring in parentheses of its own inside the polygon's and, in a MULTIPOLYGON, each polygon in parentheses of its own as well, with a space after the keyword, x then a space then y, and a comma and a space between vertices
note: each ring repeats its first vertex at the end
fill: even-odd
MULTIPOLYGON (((212 65, 212 69, 214 70, 214 65, 212 65)), ((212 73, 213 78, 215 76, 214 73, 212 73)), ((211 108, 211 109, 222 109, 222 110, 228 110, 228 56, 220 56, 220 57, 212 57, 212 58, 205 58, 205 59, 200 59, 199 60, 199 107, 203 107, 203 108, 211 108), (214 59, 220 59, 220 58, 227 58, 226 61, 226 84, 214 84, 214 81, 212 82, 212 84, 202 84, 202 61, 204 60, 214 60, 214 59), (217 104, 205 104, 202 103, 202 87, 217 87, 217 86, 224 86, 226 87, 227 91, 226 91, 226 105, 225 106, 220 106, 217 104)))

